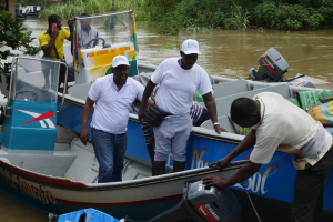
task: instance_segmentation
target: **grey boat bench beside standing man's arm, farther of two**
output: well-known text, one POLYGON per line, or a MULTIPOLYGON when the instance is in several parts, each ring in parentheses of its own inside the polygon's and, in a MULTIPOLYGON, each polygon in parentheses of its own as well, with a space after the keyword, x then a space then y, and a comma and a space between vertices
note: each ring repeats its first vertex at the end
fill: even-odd
POLYGON ((241 79, 232 82, 213 84, 212 88, 214 90, 215 99, 249 91, 248 81, 241 79))

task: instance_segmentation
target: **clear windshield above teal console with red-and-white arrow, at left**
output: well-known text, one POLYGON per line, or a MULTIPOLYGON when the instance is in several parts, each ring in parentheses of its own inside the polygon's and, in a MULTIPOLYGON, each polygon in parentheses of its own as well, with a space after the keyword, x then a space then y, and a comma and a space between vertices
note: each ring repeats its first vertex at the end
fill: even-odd
POLYGON ((57 102, 60 63, 36 58, 16 58, 12 63, 10 99, 57 102))

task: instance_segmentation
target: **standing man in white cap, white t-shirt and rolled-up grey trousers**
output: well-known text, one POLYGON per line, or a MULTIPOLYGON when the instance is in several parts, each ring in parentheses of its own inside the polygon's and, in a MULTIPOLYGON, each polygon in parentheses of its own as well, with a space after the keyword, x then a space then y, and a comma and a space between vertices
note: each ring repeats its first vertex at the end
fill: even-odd
POLYGON ((212 85, 208 73, 196 64, 199 43, 195 40, 185 40, 180 51, 181 58, 164 60, 149 80, 139 111, 139 120, 142 122, 147 101, 154 87, 160 83, 155 104, 164 112, 171 113, 161 123, 154 127, 155 154, 154 174, 165 173, 165 160, 170 148, 173 157, 173 172, 183 171, 186 161, 186 143, 192 131, 190 108, 193 94, 198 90, 204 100, 205 107, 214 124, 215 131, 224 131, 220 128, 216 117, 216 104, 212 95, 212 85))

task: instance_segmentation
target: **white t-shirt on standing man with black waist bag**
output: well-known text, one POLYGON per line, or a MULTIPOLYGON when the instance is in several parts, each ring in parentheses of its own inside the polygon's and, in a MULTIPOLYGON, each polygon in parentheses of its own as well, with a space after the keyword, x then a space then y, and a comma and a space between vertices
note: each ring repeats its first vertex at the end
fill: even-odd
POLYGON ((182 69, 179 58, 164 60, 151 75, 151 81, 160 83, 155 97, 157 105, 172 114, 183 114, 191 108, 193 94, 198 90, 202 95, 213 91, 208 73, 199 64, 190 70, 182 69))

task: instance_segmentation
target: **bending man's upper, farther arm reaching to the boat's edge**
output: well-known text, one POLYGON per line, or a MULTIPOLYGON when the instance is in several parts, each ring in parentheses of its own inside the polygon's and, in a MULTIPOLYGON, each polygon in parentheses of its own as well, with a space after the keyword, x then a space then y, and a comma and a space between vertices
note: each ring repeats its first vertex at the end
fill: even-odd
POLYGON ((256 141, 255 132, 256 130, 252 129, 244 138, 244 140, 235 149, 233 149, 233 151, 231 151, 226 157, 222 158, 218 162, 211 162, 210 167, 216 165, 219 167, 219 170, 222 170, 222 168, 226 167, 232 159, 249 150, 250 148, 253 148, 256 141))

